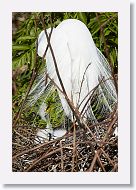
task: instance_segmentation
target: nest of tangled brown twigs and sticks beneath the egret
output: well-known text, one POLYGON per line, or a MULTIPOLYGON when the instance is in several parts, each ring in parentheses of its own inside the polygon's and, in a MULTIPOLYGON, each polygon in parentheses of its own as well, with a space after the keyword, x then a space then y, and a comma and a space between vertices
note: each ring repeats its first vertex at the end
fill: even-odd
POLYGON ((35 142, 37 129, 13 130, 13 172, 117 172, 117 111, 98 124, 71 126, 63 137, 35 142), (99 131, 99 137, 96 133, 99 131))

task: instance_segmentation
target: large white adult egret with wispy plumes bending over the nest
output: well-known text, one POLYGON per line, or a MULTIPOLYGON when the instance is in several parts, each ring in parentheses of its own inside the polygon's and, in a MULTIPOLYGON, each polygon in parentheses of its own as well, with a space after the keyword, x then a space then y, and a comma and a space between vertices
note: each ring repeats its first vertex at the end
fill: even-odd
MULTIPOLYGON (((48 35, 50 32, 51 29, 47 29, 48 35)), ((111 69, 104 55, 95 46, 86 25, 76 19, 64 20, 56 28, 53 28, 50 43, 67 96, 73 105, 78 108, 79 112, 82 112, 86 105, 87 95, 99 84, 95 98, 88 102, 86 105, 88 109, 84 109, 82 113, 83 118, 91 120, 92 123, 97 123, 98 118, 96 115, 111 113, 114 104, 117 102, 117 93, 111 77, 111 69), (102 80, 104 82, 101 83, 102 80)), ((38 37, 37 53, 40 57, 43 57, 47 45, 45 31, 42 31, 38 37)), ((62 90, 50 48, 48 48, 45 59, 48 76, 62 90)), ((33 98, 30 103, 35 103, 43 94, 47 96, 48 86, 50 86, 50 80, 48 79, 45 85, 45 73, 43 73, 31 90, 30 94, 33 95, 33 98)), ((73 120, 72 110, 64 94, 59 90, 58 94, 66 116, 73 120)), ((43 119, 46 119, 43 108, 46 108, 45 103, 41 105, 39 114, 43 119)), ((50 128, 51 134, 53 134, 50 124, 47 128, 50 128)))

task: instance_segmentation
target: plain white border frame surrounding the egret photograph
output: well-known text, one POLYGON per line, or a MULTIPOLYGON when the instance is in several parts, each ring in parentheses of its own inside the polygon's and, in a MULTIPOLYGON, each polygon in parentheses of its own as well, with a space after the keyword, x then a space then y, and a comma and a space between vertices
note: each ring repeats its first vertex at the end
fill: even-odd
POLYGON ((4 184, 130 184, 130 4, 128 0, 4 0, 0 6, 0 180, 4 184), (119 171, 12 172, 12 12, 118 12, 119 171), (125 144, 126 143, 126 144, 125 144))

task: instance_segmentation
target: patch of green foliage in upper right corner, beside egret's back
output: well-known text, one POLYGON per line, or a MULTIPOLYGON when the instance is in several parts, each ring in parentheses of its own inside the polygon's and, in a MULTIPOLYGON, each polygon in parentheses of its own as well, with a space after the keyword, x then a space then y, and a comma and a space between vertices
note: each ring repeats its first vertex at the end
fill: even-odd
POLYGON ((117 73, 118 14, 109 12, 94 13, 87 26, 92 33, 96 46, 112 63, 117 73))

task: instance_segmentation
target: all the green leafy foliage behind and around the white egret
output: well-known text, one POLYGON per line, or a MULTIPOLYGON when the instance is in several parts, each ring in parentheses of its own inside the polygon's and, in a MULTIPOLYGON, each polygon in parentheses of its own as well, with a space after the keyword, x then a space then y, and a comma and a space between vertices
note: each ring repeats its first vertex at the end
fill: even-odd
MULTIPOLYGON (((25 13, 24 13, 25 14, 25 13)), ((47 28, 56 27, 61 21, 69 18, 79 19, 86 24, 90 30, 96 46, 102 51, 105 57, 114 67, 117 73, 117 54, 118 54, 118 14, 112 12, 104 13, 89 13, 89 12, 56 12, 56 13, 29 13, 16 33, 13 35, 12 46, 12 68, 16 72, 22 67, 25 70, 17 72, 13 82, 16 85, 16 90, 13 94, 13 115, 20 108, 20 102, 26 95, 29 81, 32 77, 32 70, 34 68, 35 54, 36 54, 36 39, 38 34, 43 30, 41 23, 41 14, 45 19, 47 28), (38 19, 37 21, 35 20, 38 19), (51 22, 52 21, 52 22, 51 22)), ((39 65, 42 63, 41 58, 38 58, 39 65)), ((41 64, 41 68, 44 65, 41 64)), ((61 108, 60 101, 56 92, 46 100, 50 114, 50 120, 54 127, 59 126, 63 122, 64 114, 61 108), (56 101, 57 100, 57 101, 56 101), (59 103, 56 103, 59 102, 59 103)), ((24 113, 23 117, 31 118, 32 113, 36 110, 32 109, 30 112, 24 113)), ((31 119, 30 119, 31 120, 31 119)), ((34 117, 35 124, 43 127, 46 122, 34 117)))

